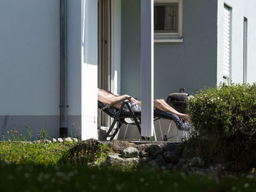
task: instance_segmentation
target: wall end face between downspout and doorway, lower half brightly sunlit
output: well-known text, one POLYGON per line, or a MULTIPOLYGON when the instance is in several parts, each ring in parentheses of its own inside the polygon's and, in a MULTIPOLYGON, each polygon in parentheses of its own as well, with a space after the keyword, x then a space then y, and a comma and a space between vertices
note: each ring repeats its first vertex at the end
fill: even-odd
POLYGON ((81 139, 97 136, 97 1, 82 1, 81 139))

